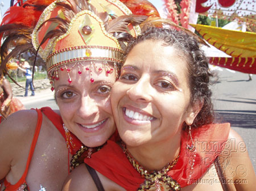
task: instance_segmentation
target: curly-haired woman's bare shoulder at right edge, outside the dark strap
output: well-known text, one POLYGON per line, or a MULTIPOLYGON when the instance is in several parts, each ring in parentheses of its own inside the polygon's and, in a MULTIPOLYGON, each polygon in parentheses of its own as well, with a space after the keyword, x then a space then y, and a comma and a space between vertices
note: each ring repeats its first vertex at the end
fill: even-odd
POLYGON ((247 146, 233 129, 230 129, 228 141, 219 158, 226 180, 236 190, 253 190, 256 176, 247 146))

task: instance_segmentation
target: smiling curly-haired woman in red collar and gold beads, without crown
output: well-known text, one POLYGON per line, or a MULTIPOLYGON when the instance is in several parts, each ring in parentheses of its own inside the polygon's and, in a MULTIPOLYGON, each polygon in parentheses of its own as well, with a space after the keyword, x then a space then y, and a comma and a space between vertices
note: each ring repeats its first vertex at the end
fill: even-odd
POLYGON ((149 27, 129 43, 110 95, 122 141, 85 159, 64 190, 252 190, 245 143, 213 122, 211 77, 195 37, 149 27))

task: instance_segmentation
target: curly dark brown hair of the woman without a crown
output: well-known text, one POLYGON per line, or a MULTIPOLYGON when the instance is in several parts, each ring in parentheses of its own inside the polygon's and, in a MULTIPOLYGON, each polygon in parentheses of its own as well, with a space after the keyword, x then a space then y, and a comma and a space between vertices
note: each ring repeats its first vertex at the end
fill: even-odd
MULTIPOLYGON (((129 42, 125 59, 133 47, 145 40, 164 41, 164 45, 173 46, 179 52, 183 52, 188 63, 189 87, 191 90, 191 103, 197 100, 204 101, 201 111, 197 114, 191 127, 212 124, 214 120, 212 91, 209 89, 210 78, 215 75, 210 72, 208 59, 200 49, 199 41, 184 31, 170 28, 148 27, 136 39, 129 42)), ((184 123, 184 128, 187 124, 184 123)))

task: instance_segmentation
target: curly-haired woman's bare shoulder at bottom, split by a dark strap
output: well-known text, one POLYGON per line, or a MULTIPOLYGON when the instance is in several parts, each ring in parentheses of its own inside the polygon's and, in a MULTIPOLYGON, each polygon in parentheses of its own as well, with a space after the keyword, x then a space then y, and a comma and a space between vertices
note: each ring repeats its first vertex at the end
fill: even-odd
MULTIPOLYGON (((97 171, 96 173, 105 191, 125 191, 125 189, 123 189, 121 186, 117 185, 115 182, 108 179, 104 175, 101 175, 101 173, 97 171)), ((92 176, 88 172, 88 169, 84 163, 75 168, 65 180, 63 191, 68 190, 98 191, 96 184, 94 183, 92 176)))

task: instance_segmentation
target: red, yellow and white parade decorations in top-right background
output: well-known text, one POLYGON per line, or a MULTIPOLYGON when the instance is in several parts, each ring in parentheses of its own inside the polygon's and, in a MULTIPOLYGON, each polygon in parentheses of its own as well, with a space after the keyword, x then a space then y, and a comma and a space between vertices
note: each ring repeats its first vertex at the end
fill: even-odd
POLYGON ((191 5, 195 6, 195 14, 211 16, 245 23, 248 32, 223 29, 200 24, 191 24, 209 44, 228 54, 230 57, 209 57, 212 65, 226 67, 242 73, 256 74, 256 1, 255 0, 181 0, 180 14, 174 0, 163 0, 167 9, 167 18, 189 28, 191 5))

